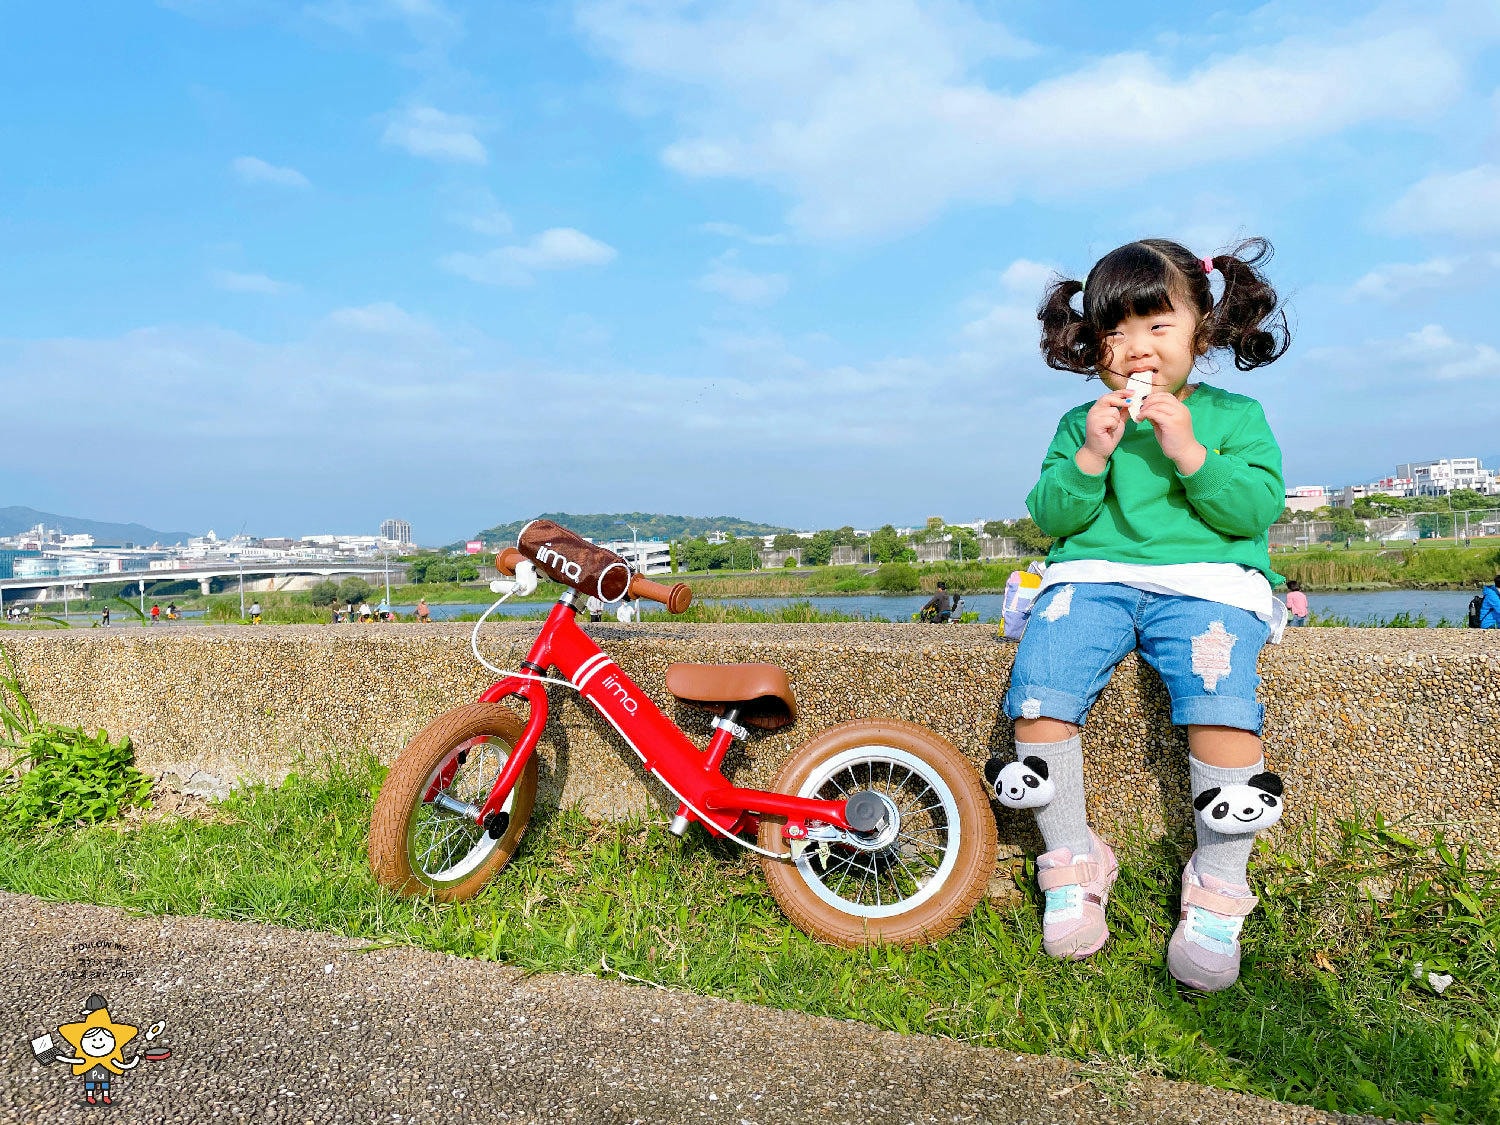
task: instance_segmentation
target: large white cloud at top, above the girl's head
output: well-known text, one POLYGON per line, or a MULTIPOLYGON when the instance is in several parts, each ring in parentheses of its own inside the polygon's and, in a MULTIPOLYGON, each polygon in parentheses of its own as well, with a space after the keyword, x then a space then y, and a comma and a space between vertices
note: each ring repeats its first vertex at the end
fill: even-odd
POLYGON ((1122 52, 1005 88, 981 66, 1024 45, 956 0, 592 0, 580 22, 675 108, 669 166, 778 188, 795 201, 792 222, 820 237, 910 230, 954 202, 1095 192, 1420 118, 1461 92, 1470 50, 1413 16, 1191 68, 1122 52), (1128 140, 1112 144, 1116 134, 1128 140), (1107 156, 1084 172, 1084 150, 1107 156))

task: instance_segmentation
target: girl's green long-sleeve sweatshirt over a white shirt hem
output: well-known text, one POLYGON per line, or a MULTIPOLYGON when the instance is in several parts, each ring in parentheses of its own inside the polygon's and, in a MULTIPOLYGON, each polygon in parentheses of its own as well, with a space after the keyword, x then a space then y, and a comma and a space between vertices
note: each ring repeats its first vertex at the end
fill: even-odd
POLYGON ((1125 423, 1104 472, 1072 459, 1083 447, 1084 402, 1062 416, 1026 498, 1036 526, 1053 536, 1048 562, 1238 562, 1266 574, 1268 530, 1286 507, 1281 447, 1260 404, 1200 382, 1185 405, 1208 459, 1184 477, 1161 452, 1149 422, 1125 423))

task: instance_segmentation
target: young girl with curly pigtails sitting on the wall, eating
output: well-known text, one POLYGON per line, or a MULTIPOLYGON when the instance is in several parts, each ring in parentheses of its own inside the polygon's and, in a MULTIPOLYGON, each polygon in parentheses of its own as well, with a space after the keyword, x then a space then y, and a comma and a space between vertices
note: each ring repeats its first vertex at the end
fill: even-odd
POLYGON ((1188 728, 1197 810, 1167 964, 1209 992, 1239 976, 1239 930, 1256 906, 1245 867, 1254 832, 1281 814, 1256 658, 1275 604, 1268 530, 1286 490, 1260 404, 1190 380, 1210 351, 1251 370, 1287 350, 1286 315, 1257 268, 1269 256, 1258 238, 1215 258, 1148 238, 1107 254, 1084 284, 1048 290, 1047 364, 1096 376, 1106 393, 1062 416, 1026 498, 1056 542, 1005 696, 1018 760, 988 772, 1002 804, 1036 810, 1047 952, 1088 957, 1108 938, 1118 868, 1084 814, 1078 730, 1138 650, 1166 681, 1172 722, 1188 728))

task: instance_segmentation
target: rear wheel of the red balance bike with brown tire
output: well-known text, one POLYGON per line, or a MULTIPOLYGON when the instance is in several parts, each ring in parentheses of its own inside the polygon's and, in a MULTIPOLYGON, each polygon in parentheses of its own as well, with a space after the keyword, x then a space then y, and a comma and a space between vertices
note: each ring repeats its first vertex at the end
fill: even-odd
POLYGON ((958 926, 994 870, 996 832, 978 771, 932 730, 892 718, 843 723, 804 742, 771 786, 843 800, 885 795, 900 816, 866 849, 812 844, 795 862, 782 818, 762 818, 771 894, 800 928, 832 945, 915 945, 958 926), (882 888, 885 894, 882 894, 882 888))

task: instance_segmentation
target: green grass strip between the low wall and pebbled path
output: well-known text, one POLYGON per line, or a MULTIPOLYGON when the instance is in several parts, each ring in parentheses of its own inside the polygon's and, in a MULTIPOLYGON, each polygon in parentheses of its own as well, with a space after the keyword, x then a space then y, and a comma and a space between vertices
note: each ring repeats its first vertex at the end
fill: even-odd
POLYGON ((474 902, 378 890, 366 870, 368 759, 240 792, 206 818, 16 834, 0 885, 152 914, 280 922, 414 944, 528 970, 572 970, 1161 1074, 1328 1110, 1413 1120, 1500 1118, 1500 874, 1378 822, 1334 855, 1262 854, 1262 909, 1240 982, 1179 992, 1164 968, 1182 854, 1120 840, 1114 939, 1086 963, 1041 952, 1038 902, 981 904, 910 951, 832 950, 788 926, 756 866, 698 830, 538 812, 474 902), (1422 962, 1422 980, 1413 966, 1422 962), (606 966, 608 964, 608 970, 606 966), (1426 972, 1452 974, 1437 994, 1426 972))

